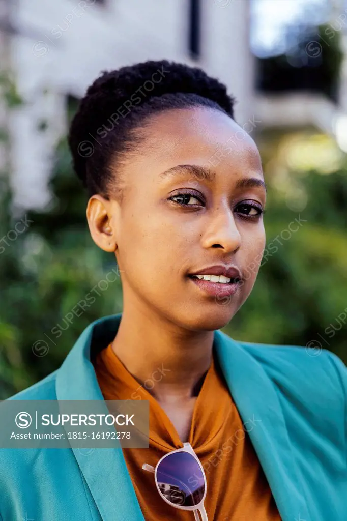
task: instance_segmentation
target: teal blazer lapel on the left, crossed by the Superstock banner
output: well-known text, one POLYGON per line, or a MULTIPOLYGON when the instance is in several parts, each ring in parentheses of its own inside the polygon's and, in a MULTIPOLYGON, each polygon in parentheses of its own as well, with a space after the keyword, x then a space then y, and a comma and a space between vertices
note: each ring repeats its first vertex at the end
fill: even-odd
MULTIPOLYGON (((104 399, 90 362, 91 340, 102 332, 101 336, 110 341, 120 316, 105 317, 83 331, 57 371, 58 400, 104 399)), ((144 521, 121 449, 71 450, 104 521, 144 521)))

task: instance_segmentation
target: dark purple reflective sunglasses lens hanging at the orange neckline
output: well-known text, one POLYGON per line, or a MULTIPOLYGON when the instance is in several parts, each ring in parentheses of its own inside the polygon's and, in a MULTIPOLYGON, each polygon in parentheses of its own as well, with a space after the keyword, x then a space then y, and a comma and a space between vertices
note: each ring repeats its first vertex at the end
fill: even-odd
POLYGON ((198 505, 204 497, 201 467, 188 452, 169 454, 159 463, 156 477, 160 492, 173 505, 198 505))

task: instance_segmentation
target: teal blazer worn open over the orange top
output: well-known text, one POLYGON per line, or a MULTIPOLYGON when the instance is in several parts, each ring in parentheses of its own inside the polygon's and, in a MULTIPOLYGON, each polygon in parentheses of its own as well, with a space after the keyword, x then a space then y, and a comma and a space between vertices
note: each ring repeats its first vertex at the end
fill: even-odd
MULTIPOLYGON (((120 318, 90 324, 59 369, 9 400, 103 400, 91 350, 115 337, 120 318)), ((214 349, 242 420, 261 419, 249 436, 282 520, 346 521, 347 369, 340 358, 239 342, 220 330, 214 349)), ((219 485, 212 479, 208 486, 219 485)), ((144 521, 122 451, 71 448, 0 449, 0 519, 144 521)))

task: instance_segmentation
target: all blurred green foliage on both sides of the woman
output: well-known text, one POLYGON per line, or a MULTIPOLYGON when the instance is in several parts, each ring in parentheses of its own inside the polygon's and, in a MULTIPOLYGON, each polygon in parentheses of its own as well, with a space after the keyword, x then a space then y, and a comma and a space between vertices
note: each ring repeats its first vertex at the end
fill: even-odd
MULTIPOLYGON (((230 336, 274 344, 313 341, 346 361, 347 319, 332 337, 325 332, 330 324, 338 329, 338 317, 342 323, 347 308, 346 168, 347 163, 329 175, 309 171, 302 176, 308 199, 300 212, 290 209, 283 194, 268 183, 265 226, 271 254, 263 259, 251 296, 224 328, 230 336), (295 219, 302 224, 298 231, 284 232, 295 219)), ((116 261, 90 237, 86 196, 73 175, 65 139, 57 147, 50 181, 53 200, 45 210, 12 217, 6 177, 0 181, 0 238, 8 238, 9 231, 15 238, 0 244, 0 399, 4 399, 57 369, 92 320, 121 311, 122 294, 117 278, 108 290, 94 293, 95 301, 81 316, 69 315, 116 268, 116 261), (62 330, 58 338, 54 327, 62 330)))

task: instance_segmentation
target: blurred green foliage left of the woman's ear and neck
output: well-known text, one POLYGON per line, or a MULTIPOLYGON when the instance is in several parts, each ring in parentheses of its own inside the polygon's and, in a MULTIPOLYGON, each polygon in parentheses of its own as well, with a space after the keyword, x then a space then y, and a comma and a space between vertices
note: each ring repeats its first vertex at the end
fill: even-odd
POLYGON ((57 369, 91 321, 122 308, 115 257, 95 247, 90 237, 86 198, 72 175, 65 141, 58 146, 51 187, 55 196, 46 212, 16 219, 10 217, 10 193, 2 190, 0 238, 6 236, 8 243, 3 241, 0 250, 2 399, 57 369), (16 237, 23 221, 27 227, 16 237), (14 240, 8 240, 8 231, 14 240), (107 281, 98 287, 112 270, 108 280, 115 282, 107 291, 107 281), (75 308, 79 316, 71 313, 88 294, 88 307, 75 308))

